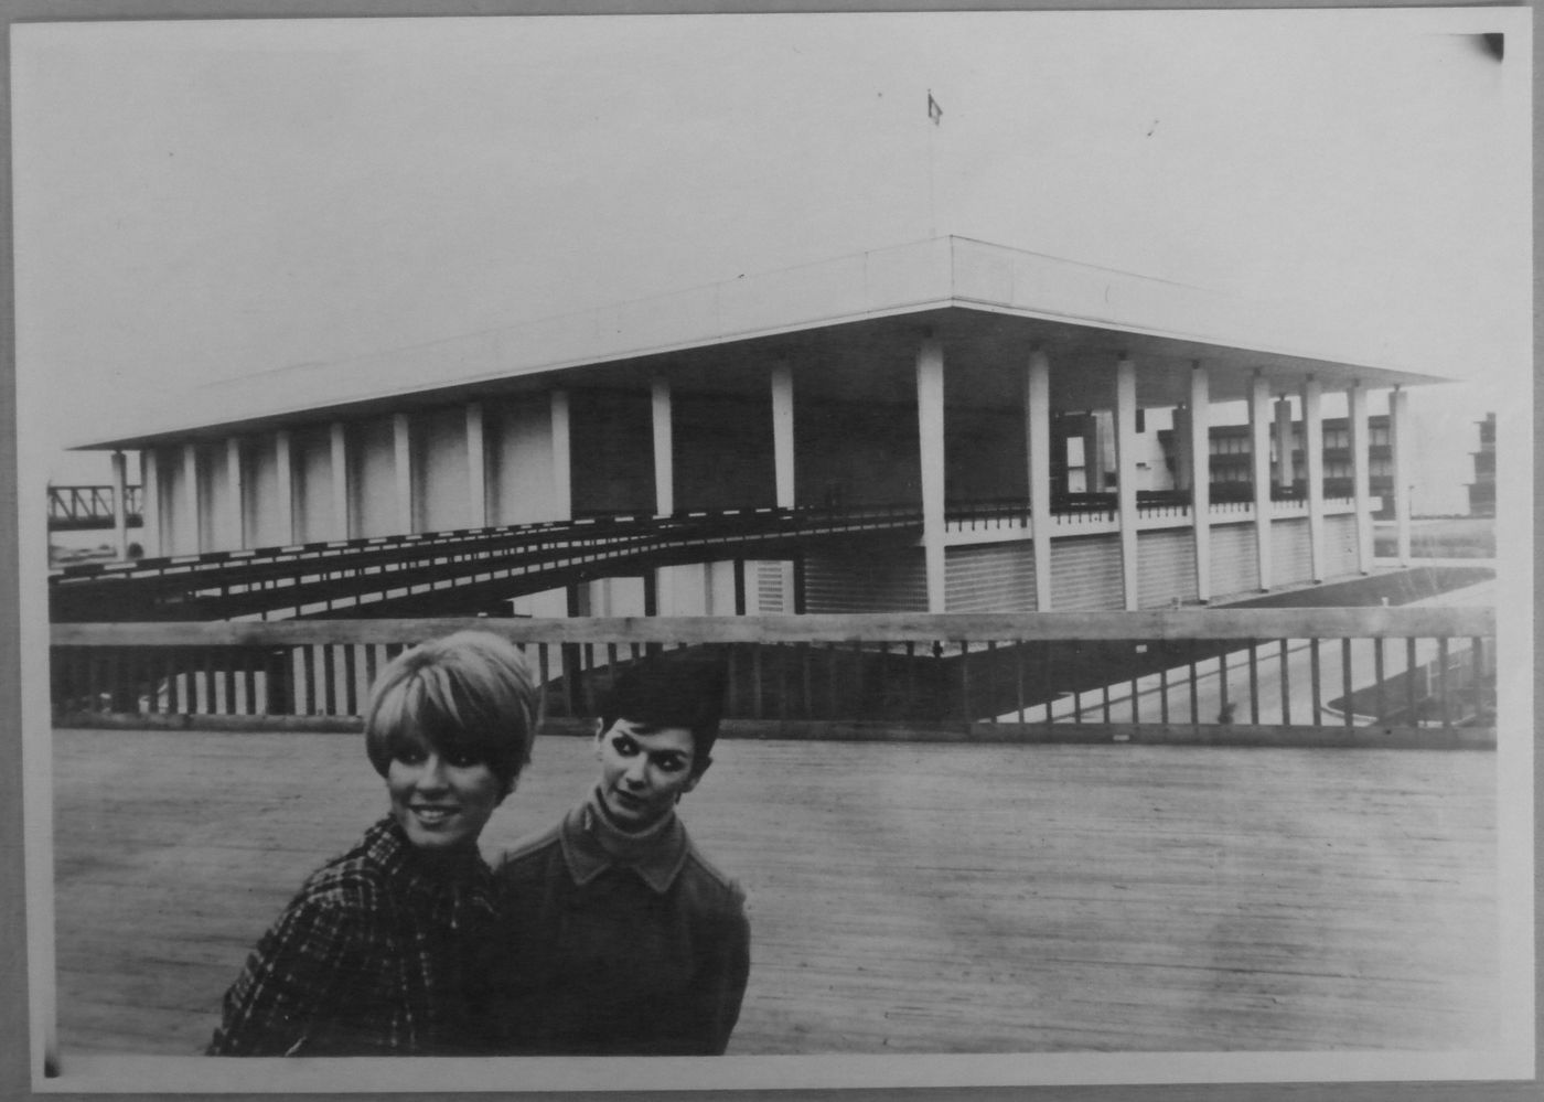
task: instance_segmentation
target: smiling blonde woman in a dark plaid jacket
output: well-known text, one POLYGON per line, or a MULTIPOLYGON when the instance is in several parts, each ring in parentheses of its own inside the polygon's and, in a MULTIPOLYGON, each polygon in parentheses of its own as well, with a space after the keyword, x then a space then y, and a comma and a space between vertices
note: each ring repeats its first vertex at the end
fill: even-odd
POLYGON ((386 665, 364 749, 389 813, 258 941, 212 1056, 480 1048, 472 989, 494 895, 477 837, 530 761, 536 724, 530 667, 496 634, 462 631, 386 665))

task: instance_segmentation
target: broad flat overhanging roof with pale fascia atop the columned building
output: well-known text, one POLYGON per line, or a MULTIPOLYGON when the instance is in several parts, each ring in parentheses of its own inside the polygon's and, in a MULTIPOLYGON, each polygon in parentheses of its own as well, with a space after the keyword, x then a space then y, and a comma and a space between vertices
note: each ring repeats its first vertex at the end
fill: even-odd
POLYGON ((1192 364, 1212 401, 1315 377, 1325 390, 1451 381, 1377 361, 1354 333, 1184 284, 963 238, 837 261, 367 357, 300 364, 195 387, 176 409, 73 443, 147 448, 564 387, 647 387, 655 375, 706 394, 764 394, 787 363, 814 400, 905 400, 919 341, 943 344, 946 400, 1019 401, 1041 347, 1055 409, 1112 403, 1110 366, 1136 364, 1141 406, 1189 400, 1192 364))

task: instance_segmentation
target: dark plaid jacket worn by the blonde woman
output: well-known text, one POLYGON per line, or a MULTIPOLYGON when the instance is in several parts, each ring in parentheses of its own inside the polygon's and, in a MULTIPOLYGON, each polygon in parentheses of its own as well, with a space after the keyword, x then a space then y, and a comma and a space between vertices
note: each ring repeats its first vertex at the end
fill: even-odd
POLYGON ((466 1008, 493 874, 476 854, 434 875, 391 818, 318 869, 225 994, 212 1056, 366 1056, 480 1048, 466 1008))

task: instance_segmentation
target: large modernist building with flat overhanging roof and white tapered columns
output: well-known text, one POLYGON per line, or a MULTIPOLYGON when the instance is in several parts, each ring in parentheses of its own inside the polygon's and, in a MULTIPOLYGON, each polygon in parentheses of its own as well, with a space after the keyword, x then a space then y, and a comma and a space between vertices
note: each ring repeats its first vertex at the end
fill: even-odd
MULTIPOLYGON (((1370 457, 1402 468, 1405 387, 1433 381, 1258 304, 937 238, 210 386, 85 446, 141 452, 150 556, 889 508, 916 529, 755 562, 738 603, 726 562, 661 566, 653 608, 1136 610, 1368 571, 1370 457), (1339 424, 1320 417, 1332 390, 1339 424), (1243 466, 1214 454, 1221 401, 1249 404, 1243 466), (1149 415, 1173 424, 1172 472, 1149 415), (1144 494, 1172 486, 1183 500, 1144 494)), ((1407 557, 1408 482, 1387 494, 1407 557)), ((510 596, 624 614, 638 582, 510 596)))

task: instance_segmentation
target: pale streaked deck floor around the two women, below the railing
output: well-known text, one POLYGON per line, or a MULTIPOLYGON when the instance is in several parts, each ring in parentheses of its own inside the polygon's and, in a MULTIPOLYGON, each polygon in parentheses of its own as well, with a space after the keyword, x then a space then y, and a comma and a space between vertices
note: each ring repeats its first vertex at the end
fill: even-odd
MULTIPOLYGON (((1490 752, 726 741, 682 813, 750 897, 732 1054, 1448 1050, 1496 1036, 1490 752)), ((590 784, 550 736, 497 852, 590 784)), ((350 735, 59 730, 59 1031, 193 1054, 381 813, 350 735)))

